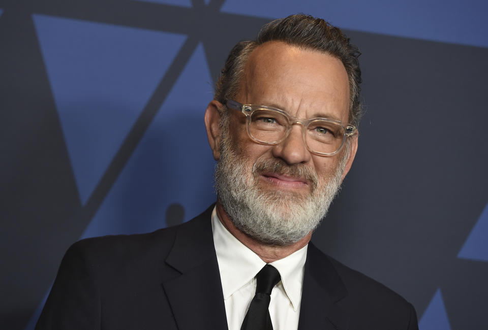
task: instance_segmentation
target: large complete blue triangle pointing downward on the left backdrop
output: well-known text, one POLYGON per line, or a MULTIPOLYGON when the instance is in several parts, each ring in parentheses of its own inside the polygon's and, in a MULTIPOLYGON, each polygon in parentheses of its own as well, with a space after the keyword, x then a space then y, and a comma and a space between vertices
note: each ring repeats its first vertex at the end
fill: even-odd
POLYGON ((33 16, 84 204, 186 37, 33 16))

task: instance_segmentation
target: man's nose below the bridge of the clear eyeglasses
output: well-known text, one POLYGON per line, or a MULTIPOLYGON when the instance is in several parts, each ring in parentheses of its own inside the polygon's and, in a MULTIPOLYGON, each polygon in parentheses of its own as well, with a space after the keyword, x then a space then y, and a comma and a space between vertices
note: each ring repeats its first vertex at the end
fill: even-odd
POLYGON ((289 165, 309 162, 311 154, 303 141, 302 126, 293 125, 288 137, 273 146, 272 155, 283 159, 289 165))

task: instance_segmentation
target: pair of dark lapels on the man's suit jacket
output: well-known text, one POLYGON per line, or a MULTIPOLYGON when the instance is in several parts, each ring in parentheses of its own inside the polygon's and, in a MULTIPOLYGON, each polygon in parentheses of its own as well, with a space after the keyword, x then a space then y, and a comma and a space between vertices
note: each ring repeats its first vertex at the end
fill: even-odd
MULTIPOLYGON (((178 226, 166 263, 178 273, 164 281, 178 329, 227 329, 224 295, 211 228, 210 206, 178 226)), ((309 243, 298 330, 345 330, 347 314, 337 302, 347 295, 328 257, 309 243)))

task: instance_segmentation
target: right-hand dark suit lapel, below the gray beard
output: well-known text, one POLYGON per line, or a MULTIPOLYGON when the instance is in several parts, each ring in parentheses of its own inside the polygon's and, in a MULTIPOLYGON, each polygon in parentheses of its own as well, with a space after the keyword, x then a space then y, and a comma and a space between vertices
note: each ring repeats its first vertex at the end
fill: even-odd
POLYGON ((332 263, 310 243, 303 275, 298 330, 347 329, 348 316, 336 304, 346 295, 346 287, 332 263))

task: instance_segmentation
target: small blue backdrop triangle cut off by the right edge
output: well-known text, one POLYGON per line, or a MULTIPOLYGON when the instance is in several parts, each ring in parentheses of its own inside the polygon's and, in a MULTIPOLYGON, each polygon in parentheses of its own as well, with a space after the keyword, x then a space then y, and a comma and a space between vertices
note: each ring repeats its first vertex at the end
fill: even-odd
POLYGON ((488 204, 471 229, 471 233, 457 257, 488 261, 488 204))

